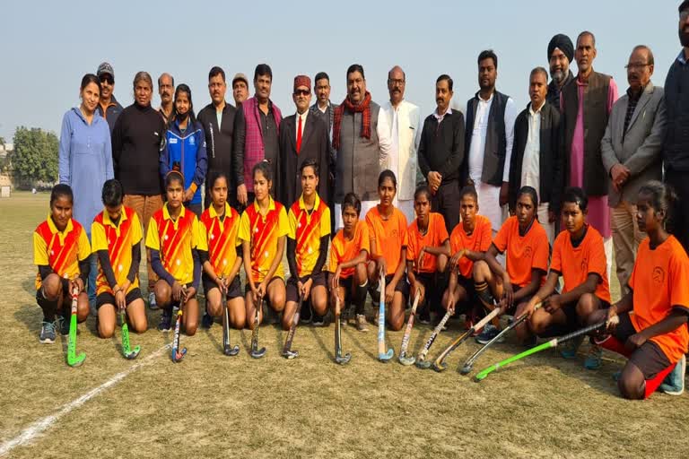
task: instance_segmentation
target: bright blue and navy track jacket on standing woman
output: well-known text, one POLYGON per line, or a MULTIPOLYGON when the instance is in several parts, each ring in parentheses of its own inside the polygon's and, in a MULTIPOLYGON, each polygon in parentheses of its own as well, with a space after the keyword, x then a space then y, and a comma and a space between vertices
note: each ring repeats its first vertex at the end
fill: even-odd
POLYGON ((168 125, 165 149, 161 152, 161 176, 164 179, 171 169, 179 169, 184 176, 184 187, 196 191, 189 204, 201 204, 201 184, 205 181, 208 157, 205 153, 204 128, 196 121, 187 125, 182 135, 177 120, 168 125))

